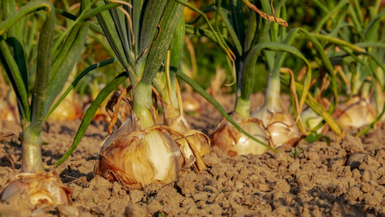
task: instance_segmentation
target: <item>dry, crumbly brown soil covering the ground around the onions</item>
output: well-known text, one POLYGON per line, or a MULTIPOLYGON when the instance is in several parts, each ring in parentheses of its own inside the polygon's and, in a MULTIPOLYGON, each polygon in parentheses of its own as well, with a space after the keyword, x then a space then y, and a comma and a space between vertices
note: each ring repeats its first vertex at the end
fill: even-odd
MULTIPOLYGON (((263 103, 253 95, 252 109, 263 103)), ((234 96, 218 99, 228 112, 234 96)), ((283 96, 284 104, 288 97, 283 96)), ((205 106, 202 116, 186 116, 191 127, 213 133, 221 115, 205 106)), ((49 123, 43 133, 43 160, 53 165, 72 144, 81 121, 49 123)), ((361 138, 338 138, 331 143, 307 144, 302 139, 290 156, 279 153, 229 157, 214 147, 203 158, 208 169, 191 172, 166 185, 149 184, 142 190, 93 176, 107 124, 93 122, 78 148, 59 168, 60 178, 73 189, 73 206, 40 205, 31 210, 22 201, 0 202, 1 216, 385 216, 385 130, 371 130, 361 138)), ((0 132, 20 132, 18 125, 0 121, 0 132)), ((0 148, 0 190, 20 172, 20 142, 6 140, 0 148)))

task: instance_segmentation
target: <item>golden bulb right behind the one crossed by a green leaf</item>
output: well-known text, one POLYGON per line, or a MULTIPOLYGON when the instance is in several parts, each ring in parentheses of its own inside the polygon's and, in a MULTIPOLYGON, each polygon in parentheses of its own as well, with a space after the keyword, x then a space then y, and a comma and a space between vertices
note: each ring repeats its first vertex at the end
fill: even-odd
POLYGON ((298 126, 294 124, 292 116, 284 111, 268 111, 266 108, 261 107, 251 116, 263 122, 274 148, 285 144, 292 146, 301 135, 298 126))

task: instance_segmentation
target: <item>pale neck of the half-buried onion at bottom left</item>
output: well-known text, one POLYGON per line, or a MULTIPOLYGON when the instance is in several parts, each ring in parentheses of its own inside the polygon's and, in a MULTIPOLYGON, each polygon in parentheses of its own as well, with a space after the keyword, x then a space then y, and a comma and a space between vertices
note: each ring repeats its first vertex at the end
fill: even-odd
POLYGON ((41 130, 32 128, 30 124, 25 125, 22 138, 22 173, 44 171, 41 143, 41 130))

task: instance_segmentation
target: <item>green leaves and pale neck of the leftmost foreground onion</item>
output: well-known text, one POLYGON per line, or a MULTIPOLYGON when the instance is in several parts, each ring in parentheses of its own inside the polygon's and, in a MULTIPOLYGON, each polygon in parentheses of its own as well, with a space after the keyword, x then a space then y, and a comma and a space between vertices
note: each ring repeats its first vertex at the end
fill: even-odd
MULTIPOLYGON (((87 5, 88 1, 83 0, 81 2, 82 10, 84 10, 84 7, 87 7, 87 5)), ((15 23, 17 23, 25 15, 41 9, 46 9, 48 14, 39 34, 39 44, 36 51, 37 72, 31 105, 28 104, 27 94, 24 94, 24 89, 26 90, 27 86, 23 85, 20 71, 18 70, 18 67, 20 67, 19 64, 23 65, 23 63, 16 64, 15 60, 8 55, 8 48, 3 46, 4 41, 2 40, 1 42, 1 48, 3 54, 5 54, 3 59, 6 59, 6 61, 3 61, 3 59, 2 61, 3 64, 4 62, 6 63, 5 65, 8 69, 7 73, 12 75, 10 78, 12 78, 12 85, 14 86, 15 91, 17 93, 19 92, 19 94, 17 94, 18 101, 22 101, 24 106, 25 98, 27 98, 28 109, 26 107, 20 106, 21 103, 19 103, 19 111, 23 110, 22 114, 27 117, 31 117, 23 118, 21 120, 23 128, 22 172, 28 173, 44 171, 41 157, 41 133, 43 130, 44 118, 46 117, 51 102, 57 96, 58 92, 60 92, 65 81, 67 80, 68 74, 76 62, 75 60, 78 59, 84 46, 86 34, 88 32, 87 21, 81 24, 79 31, 77 29, 74 30, 75 33, 72 34, 74 37, 71 37, 66 41, 67 46, 63 50, 65 51, 64 54, 66 56, 61 56, 59 58, 60 61, 57 62, 58 64, 51 65, 51 57, 53 53, 55 38, 55 10, 50 2, 36 1, 20 8, 13 14, 13 16, 0 24, 0 35, 4 33, 8 28, 12 27, 15 23), (51 70, 52 66, 54 66, 53 71, 51 70)))

